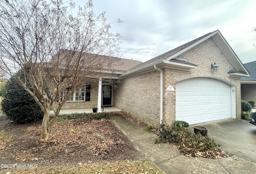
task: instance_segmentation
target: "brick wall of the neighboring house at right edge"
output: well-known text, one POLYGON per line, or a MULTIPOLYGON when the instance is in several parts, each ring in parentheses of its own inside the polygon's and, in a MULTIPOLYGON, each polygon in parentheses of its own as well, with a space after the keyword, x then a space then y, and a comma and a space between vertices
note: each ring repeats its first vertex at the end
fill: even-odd
POLYGON ((241 97, 242 100, 256 102, 256 84, 241 84, 241 97))

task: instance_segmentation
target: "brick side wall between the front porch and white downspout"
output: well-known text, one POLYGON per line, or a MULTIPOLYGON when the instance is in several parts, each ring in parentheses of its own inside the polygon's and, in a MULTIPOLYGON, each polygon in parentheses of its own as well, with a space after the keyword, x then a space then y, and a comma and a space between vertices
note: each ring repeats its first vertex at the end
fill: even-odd
POLYGON ((122 79, 113 90, 114 106, 146 123, 160 123, 160 71, 122 79))

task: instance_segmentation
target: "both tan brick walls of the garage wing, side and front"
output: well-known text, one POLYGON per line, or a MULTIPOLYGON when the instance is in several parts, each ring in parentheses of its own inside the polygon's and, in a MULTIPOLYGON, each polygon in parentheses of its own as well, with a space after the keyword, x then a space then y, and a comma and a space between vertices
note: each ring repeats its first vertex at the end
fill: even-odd
MULTIPOLYGON (((190 49, 180 57, 187 58, 190 63, 198 65, 191 71, 163 69, 163 121, 172 124, 175 121, 175 90, 166 91, 176 81, 194 78, 210 77, 221 80, 236 87, 236 118, 241 118, 240 78, 228 77, 228 69, 233 67, 216 43, 206 40, 204 43, 190 49), (212 73, 211 63, 219 66, 218 73, 212 73)), ((135 117, 141 117, 149 123, 159 124, 160 121, 160 72, 152 71, 134 77, 123 79, 114 90, 114 105, 135 117)))

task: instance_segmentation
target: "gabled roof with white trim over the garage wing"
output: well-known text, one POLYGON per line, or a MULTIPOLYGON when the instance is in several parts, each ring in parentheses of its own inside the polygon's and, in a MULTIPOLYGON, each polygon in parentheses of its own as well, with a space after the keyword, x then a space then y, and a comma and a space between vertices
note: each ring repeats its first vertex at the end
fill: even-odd
MULTIPOLYGON (((162 66, 164 63, 171 64, 171 62, 176 57, 178 57, 179 55, 185 53, 186 51, 196 47, 200 43, 203 43, 204 41, 208 40, 209 38, 212 38, 214 40, 214 42, 216 42, 216 44, 223 51, 224 55, 226 55, 226 57, 228 58, 230 63, 232 63, 232 65, 234 66, 236 72, 230 73, 229 74, 230 77, 231 76, 232 77, 249 76, 248 71, 246 70, 246 68, 244 67, 244 65, 242 64, 242 62, 240 61, 240 59, 234 52, 234 50, 230 47, 230 45, 225 40, 225 38, 222 36, 222 34, 220 33, 219 30, 205 34, 204 36, 201 36, 199 38, 196 38, 195 40, 192 40, 188 43, 180 45, 179 47, 176 47, 166 53, 158 55, 144 63, 136 65, 135 67, 132 67, 131 69, 129 69, 128 71, 126 71, 125 73, 123 73, 120 76, 128 77, 128 76, 131 76, 132 74, 136 74, 137 72, 142 73, 143 71, 146 72, 146 71, 154 70, 154 65, 162 66)), ((184 65, 186 63, 184 63, 184 61, 183 61, 182 64, 184 65)), ((183 69, 184 68, 185 69, 196 68, 195 67, 196 65, 188 65, 188 66, 186 66, 186 65, 183 66, 183 65, 180 65, 179 68, 183 68, 183 69)))

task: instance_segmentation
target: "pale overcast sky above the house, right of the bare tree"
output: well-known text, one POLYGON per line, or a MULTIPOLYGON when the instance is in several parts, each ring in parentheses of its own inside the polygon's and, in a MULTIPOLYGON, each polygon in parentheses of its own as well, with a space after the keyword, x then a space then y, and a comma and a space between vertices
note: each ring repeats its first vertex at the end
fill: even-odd
MULTIPOLYGON (((74 0, 84 6, 86 0, 74 0)), ((152 59, 220 30, 242 63, 256 60, 256 0, 93 0, 95 14, 123 36, 122 58, 152 59)))

